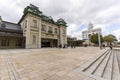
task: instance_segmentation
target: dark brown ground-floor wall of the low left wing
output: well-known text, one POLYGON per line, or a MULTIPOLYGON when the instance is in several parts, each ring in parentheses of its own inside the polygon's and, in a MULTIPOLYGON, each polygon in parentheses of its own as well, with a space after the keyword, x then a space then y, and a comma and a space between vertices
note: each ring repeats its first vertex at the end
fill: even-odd
POLYGON ((0 49, 25 48, 25 38, 0 36, 0 49))

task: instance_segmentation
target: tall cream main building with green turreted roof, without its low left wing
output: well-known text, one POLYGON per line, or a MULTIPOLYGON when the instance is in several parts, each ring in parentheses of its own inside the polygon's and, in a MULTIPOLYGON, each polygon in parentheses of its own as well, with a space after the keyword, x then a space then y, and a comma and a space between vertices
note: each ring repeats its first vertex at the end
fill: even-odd
POLYGON ((67 25, 62 18, 55 22, 52 17, 44 15, 38 7, 32 4, 27 6, 23 13, 22 18, 15 25, 24 38, 22 39, 24 43, 20 43, 25 48, 58 47, 59 45, 63 47, 67 45, 67 25))

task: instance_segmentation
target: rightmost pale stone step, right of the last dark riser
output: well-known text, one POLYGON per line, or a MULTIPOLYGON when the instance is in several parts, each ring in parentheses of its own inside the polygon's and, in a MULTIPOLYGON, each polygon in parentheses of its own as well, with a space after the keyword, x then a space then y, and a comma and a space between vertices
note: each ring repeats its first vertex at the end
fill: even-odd
POLYGON ((114 52, 114 64, 113 64, 114 66, 113 66, 112 80, 120 79, 119 65, 118 65, 118 59, 116 53, 117 51, 114 52))

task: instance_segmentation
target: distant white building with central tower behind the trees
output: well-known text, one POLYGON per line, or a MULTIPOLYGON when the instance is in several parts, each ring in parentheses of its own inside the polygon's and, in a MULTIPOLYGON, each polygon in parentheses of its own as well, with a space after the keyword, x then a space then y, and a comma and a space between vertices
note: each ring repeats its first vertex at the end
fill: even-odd
POLYGON ((84 41, 90 43, 91 35, 96 34, 96 33, 101 34, 102 29, 101 28, 94 29, 93 24, 90 22, 88 25, 88 30, 82 31, 82 38, 84 41))

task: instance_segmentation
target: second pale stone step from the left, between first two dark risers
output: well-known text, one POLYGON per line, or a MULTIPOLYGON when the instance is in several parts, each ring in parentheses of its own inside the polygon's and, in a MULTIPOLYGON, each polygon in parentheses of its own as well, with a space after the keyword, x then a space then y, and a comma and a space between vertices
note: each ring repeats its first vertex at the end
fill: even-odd
POLYGON ((94 70, 103 62, 109 52, 106 52, 103 56, 101 56, 98 60, 96 60, 85 72, 87 74, 92 74, 94 70))

